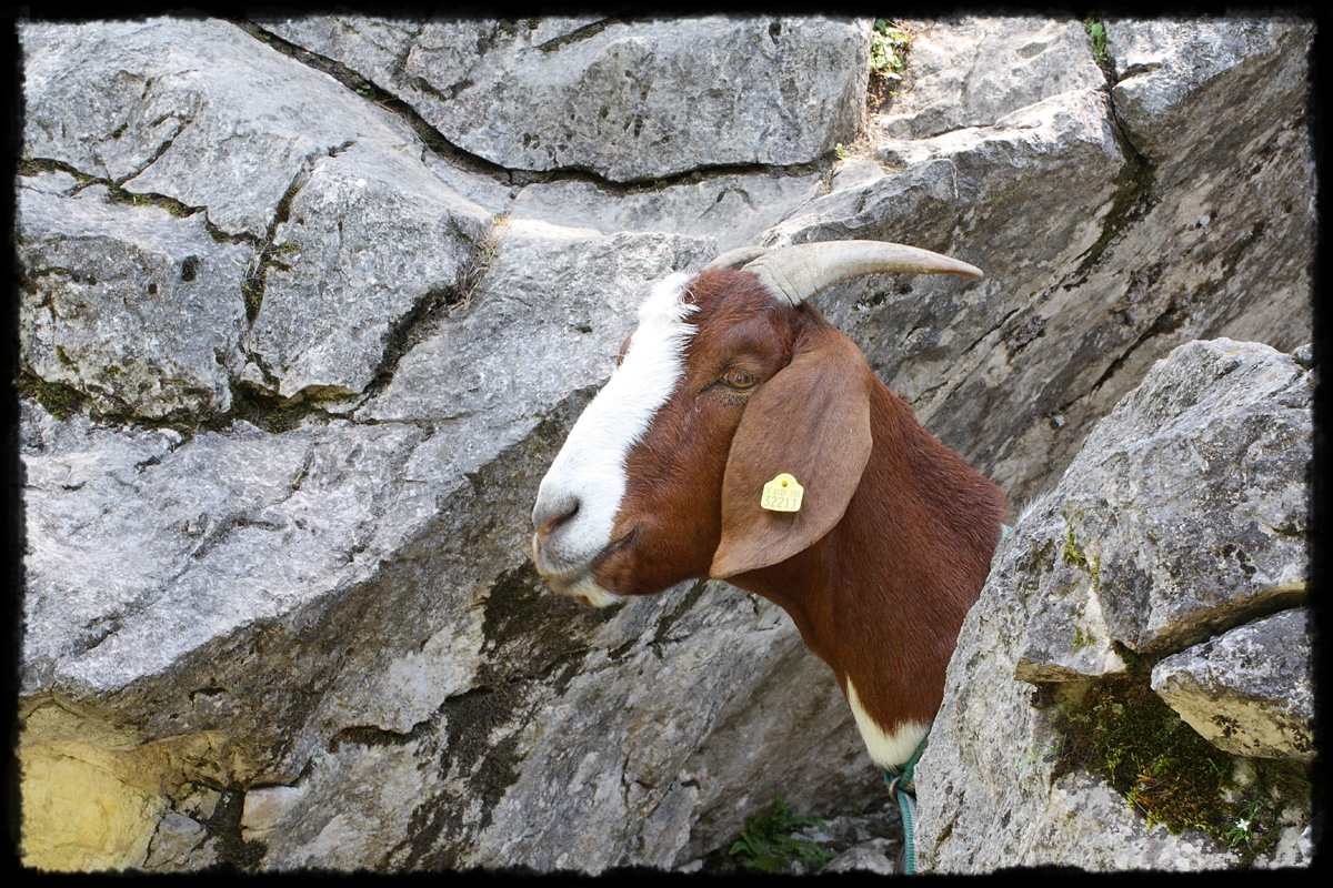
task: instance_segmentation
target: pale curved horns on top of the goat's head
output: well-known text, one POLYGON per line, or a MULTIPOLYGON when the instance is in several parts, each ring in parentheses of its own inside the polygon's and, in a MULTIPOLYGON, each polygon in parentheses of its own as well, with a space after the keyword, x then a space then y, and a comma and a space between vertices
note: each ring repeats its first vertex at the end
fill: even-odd
MULTIPOLYGON (((730 253, 738 253, 732 250, 730 253)), ((730 256, 724 253, 714 262, 730 256)), ((769 250, 748 262, 773 296, 800 305, 834 284, 862 274, 965 274, 981 277, 981 269, 904 244, 885 241, 820 241, 769 250)))

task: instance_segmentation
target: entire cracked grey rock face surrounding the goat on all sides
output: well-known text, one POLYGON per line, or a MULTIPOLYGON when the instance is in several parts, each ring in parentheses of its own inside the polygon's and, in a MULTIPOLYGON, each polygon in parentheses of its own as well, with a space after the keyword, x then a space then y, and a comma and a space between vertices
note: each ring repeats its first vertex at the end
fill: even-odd
MULTIPOLYGON (((1313 23, 1109 20, 1101 64, 1076 20, 902 24, 898 97, 868 112, 869 21, 23 23, 25 863, 697 868, 778 793, 881 801, 778 608, 700 582, 587 611, 528 560, 537 482, 648 288, 745 244, 985 269, 814 304, 1014 513, 1176 346, 1276 349, 1189 346, 1209 386, 1106 419, 1138 417, 1120 486, 1040 525, 1101 584, 1058 558, 1032 580, 988 707, 1022 731, 1013 668, 1069 686, 1140 656, 1237 755, 1308 759, 1284 614, 1309 425, 1278 353, 1310 339, 1313 23)), ((1034 785, 1125 808, 1086 774, 1034 785)), ((1120 835, 1224 861, 1158 832, 1120 835)), ((1002 865, 962 835, 938 868, 1002 865)))

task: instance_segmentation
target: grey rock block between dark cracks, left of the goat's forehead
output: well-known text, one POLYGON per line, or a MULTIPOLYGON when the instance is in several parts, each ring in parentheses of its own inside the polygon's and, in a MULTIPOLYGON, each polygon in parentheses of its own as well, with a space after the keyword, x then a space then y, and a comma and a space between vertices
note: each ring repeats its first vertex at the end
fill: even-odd
POLYGON ((463 297, 491 214, 415 158, 359 145, 295 188, 245 347, 284 398, 360 394, 415 312, 463 297))

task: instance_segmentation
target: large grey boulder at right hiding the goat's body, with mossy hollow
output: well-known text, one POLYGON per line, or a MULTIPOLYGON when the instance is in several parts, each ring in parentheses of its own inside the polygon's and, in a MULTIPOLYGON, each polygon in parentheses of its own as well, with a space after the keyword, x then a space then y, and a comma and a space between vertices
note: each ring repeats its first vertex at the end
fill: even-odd
MULTIPOLYGON (((924 869, 1238 863, 1240 849, 1150 825, 1100 776, 1060 768, 1074 743, 1060 706, 1158 660, 1152 690, 1221 750, 1309 760, 1308 618, 1282 608, 1305 590, 1312 375, 1257 343, 1176 349, 1001 543, 917 766, 924 869)), ((1309 827, 1308 809, 1273 816, 1309 827)))

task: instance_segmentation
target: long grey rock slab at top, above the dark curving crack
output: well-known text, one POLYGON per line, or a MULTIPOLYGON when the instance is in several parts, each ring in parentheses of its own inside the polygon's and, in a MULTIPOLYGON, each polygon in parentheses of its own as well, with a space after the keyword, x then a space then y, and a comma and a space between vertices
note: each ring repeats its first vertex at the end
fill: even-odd
POLYGON ((268 20, 400 96, 453 145, 612 181, 805 164, 850 141, 869 28, 817 16, 268 20))

